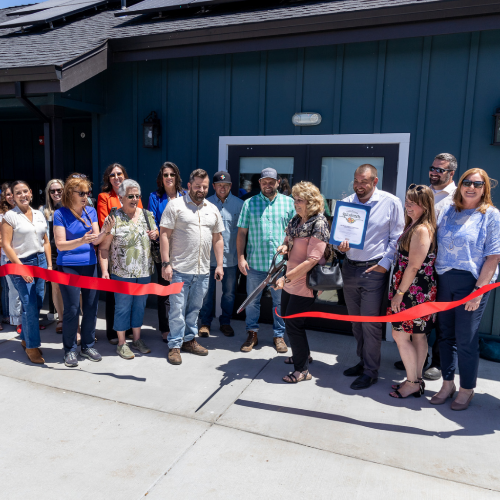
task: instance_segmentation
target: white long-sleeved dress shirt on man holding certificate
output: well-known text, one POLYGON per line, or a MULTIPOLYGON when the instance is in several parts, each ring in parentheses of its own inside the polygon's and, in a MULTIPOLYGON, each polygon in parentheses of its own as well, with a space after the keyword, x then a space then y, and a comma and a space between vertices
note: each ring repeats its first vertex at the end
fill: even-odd
POLYGON ((356 193, 347 196, 342 201, 371 207, 364 247, 362 250, 350 248, 346 252, 347 258, 362 262, 380 259, 378 265, 387 270, 390 269, 397 239, 404 227, 401 200, 375 186, 373 194, 366 203, 361 203, 356 193))

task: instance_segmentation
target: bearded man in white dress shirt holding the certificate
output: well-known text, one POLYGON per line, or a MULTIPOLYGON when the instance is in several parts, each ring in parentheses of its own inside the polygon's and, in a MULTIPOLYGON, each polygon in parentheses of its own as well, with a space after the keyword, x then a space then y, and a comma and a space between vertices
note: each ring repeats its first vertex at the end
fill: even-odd
MULTIPOLYGON (((376 187, 377 170, 365 163, 354 172, 354 194, 342 201, 370 206, 363 249, 338 245, 345 252, 342 266, 343 292, 347 311, 352 315, 378 316, 387 293, 387 282, 397 239, 404 227, 399 198, 376 187)), ((347 368, 345 376, 357 377, 351 389, 365 389, 378 380, 382 323, 352 321, 359 363, 347 368)))

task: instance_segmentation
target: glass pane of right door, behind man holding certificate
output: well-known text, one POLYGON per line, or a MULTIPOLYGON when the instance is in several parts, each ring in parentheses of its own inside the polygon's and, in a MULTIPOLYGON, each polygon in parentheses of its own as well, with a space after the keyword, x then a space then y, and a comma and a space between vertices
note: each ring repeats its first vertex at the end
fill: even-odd
MULTIPOLYGON (((335 203, 354 192, 352 182, 354 171, 359 165, 369 163, 378 172, 378 185, 382 185, 383 178, 383 156, 325 156, 321 158, 321 194, 331 215, 335 212, 335 203)), ((328 213, 326 212, 326 215, 328 213)), ((336 303, 345 305, 342 290, 323 291, 316 299, 323 303, 336 303)))

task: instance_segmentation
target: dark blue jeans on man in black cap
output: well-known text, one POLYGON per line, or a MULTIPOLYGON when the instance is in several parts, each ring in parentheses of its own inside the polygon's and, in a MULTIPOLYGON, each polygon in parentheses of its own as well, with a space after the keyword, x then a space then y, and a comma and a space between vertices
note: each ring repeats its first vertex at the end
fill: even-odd
MULTIPOLYGON (((220 308, 222 314, 219 316, 219 324, 230 324, 232 308, 234 306, 234 297, 236 291, 236 269, 237 265, 224 267, 224 277, 222 278, 222 297, 220 298, 220 308)), ((210 326, 213 319, 213 300, 215 299, 215 267, 210 266, 208 278, 208 291, 203 299, 203 305, 199 311, 201 324, 210 326)))

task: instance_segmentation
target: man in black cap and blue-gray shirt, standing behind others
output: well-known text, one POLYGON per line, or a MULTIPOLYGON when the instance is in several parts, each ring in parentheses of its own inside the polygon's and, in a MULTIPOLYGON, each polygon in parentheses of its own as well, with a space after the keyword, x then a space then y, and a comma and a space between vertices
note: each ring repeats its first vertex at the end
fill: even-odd
MULTIPOLYGON (((224 268, 224 276, 222 277, 222 297, 220 298, 220 308, 222 314, 219 316, 220 331, 227 337, 234 335, 232 329, 231 314, 234 306, 234 297, 236 291, 236 268, 238 266, 236 254, 236 236, 238 234, 238 217, 243 201, 231 194, 231 177, 227 172, 220 171, 213 176, 212 187, 215 194, 206 198, 213 203, 220 212, 224 230, 222 231, 222 239, 224 241, 224 256, 222 267, 224 268)), ((210 251, 210 274, 208 281, 208 291, 203 299, 203 305, 199 311, 201 326, 198 329, 200 337, 210 335, 210 325, 213 319, 213 301, 215 295, 215 268, 217 261, 213 252, 213 247, 210 251)))

